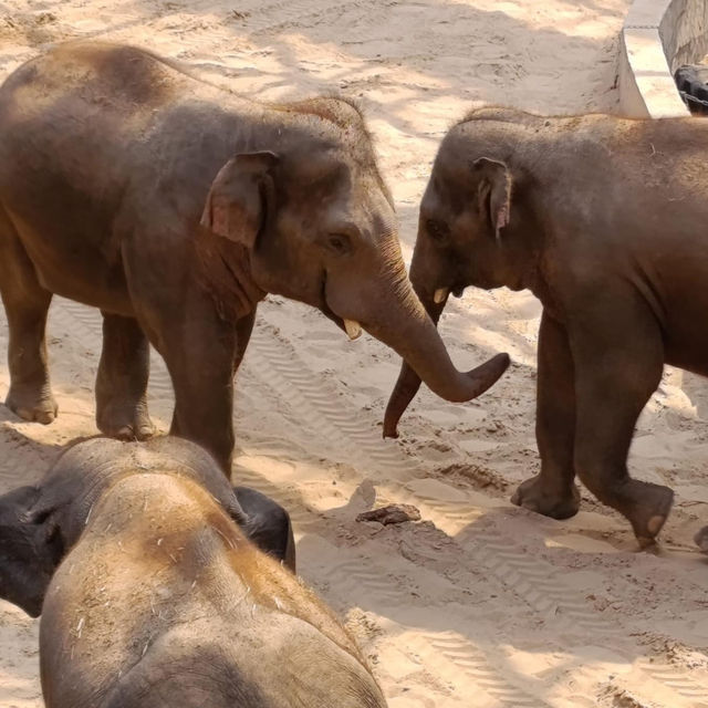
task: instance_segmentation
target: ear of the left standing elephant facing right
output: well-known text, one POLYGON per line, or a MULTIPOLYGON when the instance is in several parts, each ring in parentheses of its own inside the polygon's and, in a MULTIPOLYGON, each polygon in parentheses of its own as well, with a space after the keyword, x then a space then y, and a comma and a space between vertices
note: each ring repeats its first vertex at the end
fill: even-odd
POLYGON ((253 248, 266 218, 266 201, 273 194, 274 153, 242 153, 216 176, 200 223, 230 241, 253 248))

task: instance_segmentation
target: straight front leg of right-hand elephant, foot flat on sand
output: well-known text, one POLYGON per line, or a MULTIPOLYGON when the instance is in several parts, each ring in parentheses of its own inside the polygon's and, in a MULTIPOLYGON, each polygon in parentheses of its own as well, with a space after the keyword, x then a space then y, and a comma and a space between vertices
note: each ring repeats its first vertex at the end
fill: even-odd
POLYGON ((574 483, 575 385, 568 333, 545 312, 539 331, 539 375, 535 436, 541 472, 527 479, 511 501, 553 519, 577 513, 580 494, 574 483))

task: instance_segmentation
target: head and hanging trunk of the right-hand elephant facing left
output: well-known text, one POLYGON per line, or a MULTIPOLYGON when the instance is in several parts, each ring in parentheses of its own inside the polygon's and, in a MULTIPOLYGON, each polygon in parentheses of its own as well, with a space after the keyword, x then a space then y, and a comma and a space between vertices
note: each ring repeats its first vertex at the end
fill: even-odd
MULTIPOLYGON (((450 293, 459 298, 468 285, 521 290, 530 284, 537 252, 525 233, 532 229, 517 228, 531 219, 528 180, 510 167, 504 133, 511 116, 499 112, 493 138, 480 135, 473 121, 447 134, 423 196, 410 280, 436 324, 450 293)), ((483 366, 493 364, 492 358, 483 366)), ((384 437, 397 437, 398 420, 419 386, 417 372, 404 361, 386 407, 384 437)))

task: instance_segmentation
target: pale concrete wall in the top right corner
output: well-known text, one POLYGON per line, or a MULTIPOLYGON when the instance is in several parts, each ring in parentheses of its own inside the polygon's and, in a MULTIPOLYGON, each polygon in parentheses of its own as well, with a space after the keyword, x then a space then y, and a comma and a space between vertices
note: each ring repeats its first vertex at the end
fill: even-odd
POLYGON ((620 105, 623 115, 688 115, 674 70, 708 53, 708 0, 635 0, 622 29, 620 105))

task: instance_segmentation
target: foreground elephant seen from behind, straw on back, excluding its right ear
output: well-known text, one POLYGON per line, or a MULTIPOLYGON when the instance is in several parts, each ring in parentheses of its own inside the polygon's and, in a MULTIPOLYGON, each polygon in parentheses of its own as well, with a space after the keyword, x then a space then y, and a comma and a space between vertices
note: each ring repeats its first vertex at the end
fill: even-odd
POLYGON ((385 707, 353 638, 248 541, 229 492, 192 442, 94 438, 0 498, 0 596, 41 607, 48 708, 385 707))

